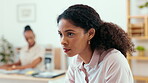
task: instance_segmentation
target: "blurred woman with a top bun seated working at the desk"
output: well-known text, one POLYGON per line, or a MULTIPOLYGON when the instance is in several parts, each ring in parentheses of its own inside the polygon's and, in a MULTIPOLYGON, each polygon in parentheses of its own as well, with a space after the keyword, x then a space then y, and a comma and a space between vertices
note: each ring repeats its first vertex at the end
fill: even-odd
POLYGON ((35 34, 28 25, 25 27, 24 37, 28 45, 21 48, 19 61, 13 64, 1 66, 0 69, 15 70, 35 68, 38 70, 44 70, 43 60, 45 49, 36 44, 35 34))

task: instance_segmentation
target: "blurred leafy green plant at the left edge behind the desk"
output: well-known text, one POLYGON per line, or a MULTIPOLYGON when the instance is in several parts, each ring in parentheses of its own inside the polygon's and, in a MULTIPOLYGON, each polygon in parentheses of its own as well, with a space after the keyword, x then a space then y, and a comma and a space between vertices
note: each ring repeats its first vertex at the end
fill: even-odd
POLYGON ((0 63, 8 64, 13 62, 14 49, 11 43, 9 43, 4 37, 0 39, 0 63))

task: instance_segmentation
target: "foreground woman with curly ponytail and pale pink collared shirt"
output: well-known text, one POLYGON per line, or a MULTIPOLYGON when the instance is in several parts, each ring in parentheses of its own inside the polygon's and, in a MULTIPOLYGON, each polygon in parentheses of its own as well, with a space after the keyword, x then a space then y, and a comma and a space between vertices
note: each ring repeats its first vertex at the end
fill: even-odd
POLYGON ((66 9, 57 19, 64 52, 75 56, 66 83, 133 83, 126 53, 133 51, 127 34, 103 22, 87 5, 66 9))

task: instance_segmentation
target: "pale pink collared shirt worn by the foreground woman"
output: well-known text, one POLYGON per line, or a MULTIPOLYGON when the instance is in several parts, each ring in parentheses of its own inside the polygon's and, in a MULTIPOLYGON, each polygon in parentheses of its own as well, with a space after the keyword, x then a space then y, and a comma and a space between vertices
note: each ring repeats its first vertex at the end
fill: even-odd
POLYGON ((74 57, 65 83, 133 83, 133 75, 120 51, 95 50, 88 64, 84 64, 79 55, 74 57))

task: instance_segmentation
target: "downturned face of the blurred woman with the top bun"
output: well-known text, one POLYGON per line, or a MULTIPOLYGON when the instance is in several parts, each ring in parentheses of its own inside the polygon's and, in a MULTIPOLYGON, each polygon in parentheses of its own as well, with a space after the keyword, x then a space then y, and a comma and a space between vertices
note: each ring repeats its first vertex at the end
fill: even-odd
POLYGON ((30 47, 32 47, 35 44, 35 35, 32 31, 26 31, 24 33, 25 39, 30 47))

